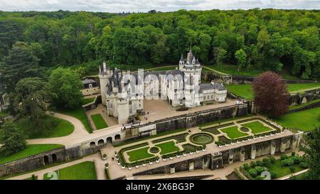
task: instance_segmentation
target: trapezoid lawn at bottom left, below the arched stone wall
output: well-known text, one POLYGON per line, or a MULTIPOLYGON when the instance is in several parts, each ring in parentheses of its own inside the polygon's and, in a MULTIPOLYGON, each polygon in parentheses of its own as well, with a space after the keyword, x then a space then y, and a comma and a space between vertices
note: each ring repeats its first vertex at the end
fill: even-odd
POLYGON ((85 161, 73 166, 61 168, 59 170, 59 180, 97 180, 95 163, 85 161))

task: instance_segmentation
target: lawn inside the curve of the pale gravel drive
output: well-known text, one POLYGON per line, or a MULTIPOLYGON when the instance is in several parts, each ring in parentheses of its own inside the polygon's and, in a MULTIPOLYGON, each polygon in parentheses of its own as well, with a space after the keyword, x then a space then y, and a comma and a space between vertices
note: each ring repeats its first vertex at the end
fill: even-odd
POLYGON ((71 124, 70 122, 66 121, 65 119, 58 119, 57 120, 58 125, 55 126, 53 129, 51 129, 49 134, 43 135, 43 134, 38 134, 38 135, 31 135, 28 136, 29 139, 37 139, 37 138, 51 138, 51 137, 59 137, 59 136, 68 136, 73 133, 75 130, 75 126, 71 124))

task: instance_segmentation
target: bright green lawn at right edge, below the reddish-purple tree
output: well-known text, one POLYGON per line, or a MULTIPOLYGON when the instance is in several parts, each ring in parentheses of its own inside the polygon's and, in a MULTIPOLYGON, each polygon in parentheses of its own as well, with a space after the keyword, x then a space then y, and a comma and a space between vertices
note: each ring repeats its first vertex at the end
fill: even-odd
POLYGON ((275 119, 277 124, 293 129, 293 131, 311 131, 320 125, 320 107, 306 109, 299 112, 284 114, 280 119, 275 119))

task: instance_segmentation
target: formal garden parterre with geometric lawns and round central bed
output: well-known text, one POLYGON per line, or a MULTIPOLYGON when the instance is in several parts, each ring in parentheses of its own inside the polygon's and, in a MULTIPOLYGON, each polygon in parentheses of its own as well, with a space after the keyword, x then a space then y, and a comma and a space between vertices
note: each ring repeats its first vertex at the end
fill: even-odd
POLYGON ((133 146, 124 146, 116 153, 118 165, 122 167, 139 166, 149 162, 160 161, 186 153, 201 151, 209 144, 217 146, 237 141, 279 134, 281 126, 272 124, 260 117, 251 117, 227 122, 226 124, 212 124, 199 128, 191 133, 182 131, 170 136, 156 136, 151 139, 137 141, 133 146))

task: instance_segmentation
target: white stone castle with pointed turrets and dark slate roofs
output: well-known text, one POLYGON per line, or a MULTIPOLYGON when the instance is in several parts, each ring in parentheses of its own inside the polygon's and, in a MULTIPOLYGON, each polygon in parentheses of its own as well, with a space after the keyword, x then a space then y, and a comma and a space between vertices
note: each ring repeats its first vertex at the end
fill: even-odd
POLYGON ((125 124, 130 117, 143 112, 143 99, 166 99, 173 107, 197 107, 202 102, 225 102, 227 90, 215 82, 201 84, 201 64, 191 50, 181 55, 176 70, 138 72, 100 67, 102 104, 107 114, 125 124))

